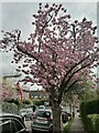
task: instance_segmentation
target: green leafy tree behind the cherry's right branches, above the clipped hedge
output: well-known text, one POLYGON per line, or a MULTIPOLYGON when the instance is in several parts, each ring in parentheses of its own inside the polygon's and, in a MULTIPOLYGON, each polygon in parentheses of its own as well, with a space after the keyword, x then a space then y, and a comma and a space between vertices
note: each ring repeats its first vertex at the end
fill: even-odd
POLYGON ((63 95, 63 101, 70 105, 70 109, 72 104, 77 105, 81 101, 94 99, 97 99, 96 82, 92 81, 92 76, 90 75, 88 75, 87 80, 81 80, 80 84, 79 82, 75 82, 63 95))

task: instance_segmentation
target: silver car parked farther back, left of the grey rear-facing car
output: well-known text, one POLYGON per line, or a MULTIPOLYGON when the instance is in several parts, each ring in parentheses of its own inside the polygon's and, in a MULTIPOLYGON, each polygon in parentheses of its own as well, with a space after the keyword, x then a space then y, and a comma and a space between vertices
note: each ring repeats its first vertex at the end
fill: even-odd
POLYGON ((18 112, 18 114, 22 116, 23 121, 25 121, 25 120, 32 120, 33 109, 32 108, 30 108, 30 109, 21 109, 18 112))

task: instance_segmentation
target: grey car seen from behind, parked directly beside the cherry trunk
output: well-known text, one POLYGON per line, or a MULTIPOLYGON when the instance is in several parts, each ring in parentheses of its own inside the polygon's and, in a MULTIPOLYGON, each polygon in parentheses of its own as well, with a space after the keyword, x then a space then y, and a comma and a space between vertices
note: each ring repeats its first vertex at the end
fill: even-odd
POLYGON ((36 110, 31 123, 32 132, 35 131, 53 131, 52 110, 36 110))

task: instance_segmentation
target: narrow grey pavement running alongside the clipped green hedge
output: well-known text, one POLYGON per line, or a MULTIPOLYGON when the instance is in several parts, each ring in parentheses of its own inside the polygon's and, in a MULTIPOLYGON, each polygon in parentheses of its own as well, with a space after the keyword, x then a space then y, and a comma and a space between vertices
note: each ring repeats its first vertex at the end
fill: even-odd
POLYGON ((81 117, 74 117, 73 124, 70 126, 70 133, 87 133, 84 129, 81 117))

